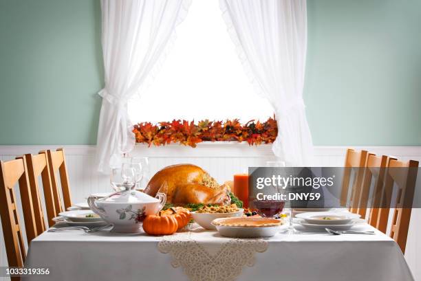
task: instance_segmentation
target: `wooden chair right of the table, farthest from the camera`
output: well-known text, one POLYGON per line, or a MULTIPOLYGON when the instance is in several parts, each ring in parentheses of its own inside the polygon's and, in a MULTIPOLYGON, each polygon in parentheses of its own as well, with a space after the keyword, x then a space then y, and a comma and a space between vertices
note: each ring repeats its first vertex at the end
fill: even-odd
POLYGON ((367 161, 367 151, 356 152, 348 148, 345 155, 345 170, 342 181, 341 206, 346 207, 349 196, 349 183, 351 181, 352 170, 355 170, 354 182, 351 188, 351 198, 349 200, 349 211, 358 211, 358 199, 360 198, 361 185, 363 183, 364 168, 367 161))

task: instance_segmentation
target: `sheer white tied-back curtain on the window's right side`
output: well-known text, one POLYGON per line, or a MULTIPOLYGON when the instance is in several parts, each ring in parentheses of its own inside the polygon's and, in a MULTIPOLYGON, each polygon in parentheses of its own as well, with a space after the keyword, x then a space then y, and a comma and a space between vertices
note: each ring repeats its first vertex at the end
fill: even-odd
POLYGON ((306 0, 220 0, 222 15, 253 85, 274 107, 274 154, 288 166, 310 165, 312 137, 303 84, 306 0))

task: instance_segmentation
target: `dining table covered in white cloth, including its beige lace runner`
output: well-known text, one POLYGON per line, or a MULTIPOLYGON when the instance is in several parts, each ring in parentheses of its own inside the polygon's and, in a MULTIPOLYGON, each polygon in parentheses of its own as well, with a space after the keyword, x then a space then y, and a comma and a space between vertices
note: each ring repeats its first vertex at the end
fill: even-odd
POLYGON ((358 227, 374 234, 281 229, 269 238, 226 238, 198 225, 171 236, 44 232, 30 243, 25 267, 49 274, 23 280, 413 280, 393 239, 368 224, 358 227))

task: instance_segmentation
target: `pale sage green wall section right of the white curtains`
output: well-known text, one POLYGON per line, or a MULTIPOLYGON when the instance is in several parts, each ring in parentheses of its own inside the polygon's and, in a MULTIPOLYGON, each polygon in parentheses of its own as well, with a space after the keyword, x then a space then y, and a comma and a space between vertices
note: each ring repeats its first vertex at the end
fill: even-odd
POLYGON ((314 144, 421 145, 421 1, 308 0, 314 144))

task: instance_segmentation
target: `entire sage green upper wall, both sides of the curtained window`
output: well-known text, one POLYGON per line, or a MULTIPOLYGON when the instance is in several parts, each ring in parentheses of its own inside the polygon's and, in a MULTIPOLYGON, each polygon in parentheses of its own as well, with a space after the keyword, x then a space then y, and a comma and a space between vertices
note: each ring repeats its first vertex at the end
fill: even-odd
MULTIPOLYGON (((314 144, 421 145, 421 1, 307 14, 314 144)), ((0 144, 95 144, 102 86, 98 0, 0 0, 0 144)))

